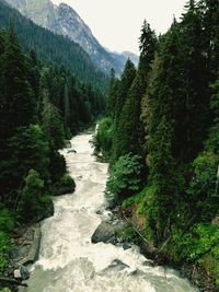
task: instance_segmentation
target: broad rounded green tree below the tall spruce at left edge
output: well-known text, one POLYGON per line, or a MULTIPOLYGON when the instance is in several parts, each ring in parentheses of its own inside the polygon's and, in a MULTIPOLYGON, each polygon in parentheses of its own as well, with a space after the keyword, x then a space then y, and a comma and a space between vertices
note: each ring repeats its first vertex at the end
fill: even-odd
POLYGON ((9 156, 0 164, 1 190, 3 194, 14 194, 4 198, 8 206, 13 208, 23 177, 31 168, 35 168, 45 182, 49 180, 48 142, 38 125, 30 125, 16 130, 8 140, 5 150, 9 156))

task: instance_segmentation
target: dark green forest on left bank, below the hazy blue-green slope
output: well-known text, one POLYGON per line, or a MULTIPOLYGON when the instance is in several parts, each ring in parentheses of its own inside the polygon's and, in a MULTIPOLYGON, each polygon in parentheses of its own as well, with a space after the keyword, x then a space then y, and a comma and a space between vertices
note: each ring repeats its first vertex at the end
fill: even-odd
POLYGON ((12 27, 0 31, 0 271, 10 232, 51 214, 51 195, 73 191, 58 150, 103 107, 99 91, 24 55, 12 27))

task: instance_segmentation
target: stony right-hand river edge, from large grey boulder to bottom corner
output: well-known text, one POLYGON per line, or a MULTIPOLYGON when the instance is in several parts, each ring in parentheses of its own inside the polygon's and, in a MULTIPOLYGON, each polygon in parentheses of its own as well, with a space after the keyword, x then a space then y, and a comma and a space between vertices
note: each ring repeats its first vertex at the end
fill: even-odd
MULTIPOLYGON (((151 266, 157 266, 161 264, 162 266, 165 266, 165 260, 159 258, 155 248, 151 246, 150 243, 146 244, 142 238, 139 238, 134 243, 131 236, 124 236, 123 230, 125 231, 128 229, 130 224, 123 218, 123 213, 118 207, 111 211, 112 213, 110 214, 108 219, 102 221, 102 223, 95 230, 92 236, 92 243, 111 243, 116 246, 123 246, 124 249, 131 248, 132 244, 138 244, 141 253, 147 257, 147 265, 149 264, 151 266)), ((140 227, 136 230, 136 237, 138 236, 140 237, 140 227), (137 232, 139 233, 137 234, 137 232)), ((181 267, 174 266, 174 269, 177 269, 181 276, 183 278, 187 278, 199 289, 200 292, 219 292, 219 288, 217 288, 215 284, 214 277, 207 273, 200 265, 185 264, 181 267)))

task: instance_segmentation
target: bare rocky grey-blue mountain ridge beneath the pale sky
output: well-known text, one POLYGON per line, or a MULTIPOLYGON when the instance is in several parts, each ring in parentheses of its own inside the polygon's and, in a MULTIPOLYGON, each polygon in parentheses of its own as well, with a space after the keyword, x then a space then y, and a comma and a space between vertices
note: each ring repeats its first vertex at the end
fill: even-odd
MULTIPOLYGON (((128 58, 127 55, 114 54, 105 49, 79 14, 68 4, 55 5, 50 0, 7 1, 36 24, 56 34, 68 36, 78 43, 103 71, 108 72, 114 68, 117 74, 123 72, 128 58)), ((134 55, 129 55, 132 59, 134 55)), ((137 58, 136 56, 134 59, 137 58)))

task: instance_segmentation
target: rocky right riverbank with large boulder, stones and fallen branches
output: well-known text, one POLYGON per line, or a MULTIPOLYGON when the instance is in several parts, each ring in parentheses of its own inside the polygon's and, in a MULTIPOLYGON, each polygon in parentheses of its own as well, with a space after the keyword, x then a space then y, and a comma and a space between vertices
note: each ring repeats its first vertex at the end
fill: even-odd
POLYGON ((110 220, 102 222, 94 232, 94 243, 112 243, 116 246, 123 246, 124 249, 131 248, 131 245, 137 244, 140 247, 141 254, 151 260, 150 265, 154 267, 162 265, 178 270, 181 277, 188 279, 200 292, 219 292, 214 275, 204 268, 203 262, 178 266, 171 262, 168 258, 163 258, 163 255, 159 254, 159 250, 152 243, 147 242, 141 235, 143 218, 136 214, 135 210, 136 208, 129 208, 122 211, 122 207, 111 210, 112 215, 110 220), (130 229, 134 230, 132 234, 130 234, 130 229), (129 232, 125 230, 129 230, 129 232))

